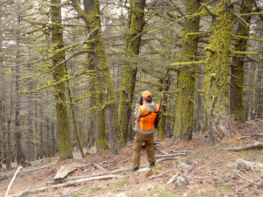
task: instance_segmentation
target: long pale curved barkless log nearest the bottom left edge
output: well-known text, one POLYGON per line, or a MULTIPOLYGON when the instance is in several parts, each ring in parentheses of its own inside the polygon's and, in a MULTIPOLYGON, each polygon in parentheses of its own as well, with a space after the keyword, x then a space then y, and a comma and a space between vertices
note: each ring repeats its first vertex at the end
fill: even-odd
MULTIPOLYGON (((122 177, 123 176, 119 176, 119 175, 107 175, 107 176, 79 179, 79 180, 74 180, 74 181, 70 181, 70 182, 67 182, 67 183, 63 183, 63 184, 57 184, 57 185, 51 185, 51 186, 47 186, 47 187, 43 187, 43 188, 33 189, 33 190, 30 190, 28 192, 28 194, 38 193, 38 192, 45 191, 45 190, 48 190, 48 189, 51 189, 51 188, 54 188, 54 189, 64 188, 64 187, 68 187, 70 185, 75 185, 75 184, 78 184, 78 183, 84 183, 84 182, 88 182, 88 181, 92 182, 94 180, 105 180, 105 179, 112 179, 112 178, 119 179, 119 178, 122 178, 122 177)), ((19 194, 21 194, 21 192, 17 193, 17 194, 9 195, 8 197, 16 197, 19 194)))

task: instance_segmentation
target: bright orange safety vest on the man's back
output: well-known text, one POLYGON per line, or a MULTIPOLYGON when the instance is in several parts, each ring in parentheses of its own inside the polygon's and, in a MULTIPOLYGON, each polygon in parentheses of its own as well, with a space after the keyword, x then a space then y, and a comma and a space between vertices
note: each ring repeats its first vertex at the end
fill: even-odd
MULTIPOLYGON (((159 105, 156 104, 159 109, 159 105)), ((142 105, 141 108, 141 117, 140 119, 135 120, 135 123, 140 121, 140 128, 142 130, 151 130, 154 128, 155 119, 157 116, 157 110, 154 112, 148 112, 142 105)))

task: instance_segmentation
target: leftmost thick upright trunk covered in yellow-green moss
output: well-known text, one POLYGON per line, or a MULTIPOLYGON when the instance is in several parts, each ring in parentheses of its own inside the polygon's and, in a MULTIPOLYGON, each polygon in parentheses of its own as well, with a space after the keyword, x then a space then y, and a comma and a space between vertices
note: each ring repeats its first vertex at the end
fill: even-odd
MULTIPOLYGON (((58 5, 61 0, 51 0, 52 5, 58 5)), ((52 21, 52 43, 55 49, 61 49, 64 46, 63 33, 57 21, 61 20, 61 8, 59 6, 51 6, 51 21, 52 21)), ((64 53, 57 53, 53 58, 53 66, 64 60, 64 53)), ((65 76, 64 64, 59 65, 54 69, 55 82, 60 81, 65 76)), ((56 84, 55 86, 55 101, 57 111, 57 129, 58 129, 58 143, 59 143, 59 157, 60 159, 73 158, 69 116, 66 97, 66 84, 64 81, 56 84)))

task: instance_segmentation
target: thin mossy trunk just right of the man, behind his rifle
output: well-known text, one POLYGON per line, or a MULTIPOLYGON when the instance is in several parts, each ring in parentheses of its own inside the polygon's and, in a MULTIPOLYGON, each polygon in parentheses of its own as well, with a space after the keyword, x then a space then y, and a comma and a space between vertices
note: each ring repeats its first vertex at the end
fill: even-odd
MULTIPOLYGON (((166 76, 167 77, 167 76, 166 76)), ((171 80, 168 75, 168 78, 162 80, 164 88, 162 88, 160 91, 168 91, 171 80)), ((166 120, 166 102, 167 102, 167 94, 164 94, 163 100, 162 100, 162 106, 160 106, 160 120, 159 120, 159 130, 158 130, 158 138, 159 139, 164 139, 165 137, 165 120, 166 120)))

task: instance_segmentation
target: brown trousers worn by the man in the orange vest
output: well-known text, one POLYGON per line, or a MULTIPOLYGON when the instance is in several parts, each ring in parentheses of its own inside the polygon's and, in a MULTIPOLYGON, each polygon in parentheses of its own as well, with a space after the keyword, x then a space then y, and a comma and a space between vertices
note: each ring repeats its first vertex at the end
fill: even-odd
POLYGON ((140 158, 141 158, 141 147, 146 148, 146 156, 148 158, 149 164, 152 164, 156 161, 154 158, 154 132, 150 134, 142 134, 136 132, 133 143, 133 154, 132 154, 132 167, 133 169, 140 167, 140 158))

